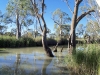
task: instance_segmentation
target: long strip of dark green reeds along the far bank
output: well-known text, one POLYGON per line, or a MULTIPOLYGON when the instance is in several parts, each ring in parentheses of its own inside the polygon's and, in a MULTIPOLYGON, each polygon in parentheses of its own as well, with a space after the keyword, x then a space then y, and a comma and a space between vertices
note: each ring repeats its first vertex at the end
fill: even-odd
MULTIPOLYGON (((67 45, 68 40, 66 38, 47 38, 47 43, 49 46, 54 46, 59 42, 59 45, 67 45)), ((77 44, 83 44, 83 40, 76 40, 77 44)), ((0 48, 14 48, 14 47, 34 47, 34 46, 42 46, 42 38, 37 37, 22 37, 20 39, 16 39, 15 36, 5 36, 0 35, 0 48)))

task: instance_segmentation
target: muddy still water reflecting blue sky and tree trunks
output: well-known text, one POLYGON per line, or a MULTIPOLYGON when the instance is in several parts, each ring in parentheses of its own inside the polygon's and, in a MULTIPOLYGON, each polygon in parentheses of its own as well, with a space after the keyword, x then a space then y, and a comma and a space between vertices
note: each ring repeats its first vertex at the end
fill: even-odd
POLYGON ((42 47, 0 50, 0 75, 68 75, 64 58, 67 48, 47 57, 42 47))

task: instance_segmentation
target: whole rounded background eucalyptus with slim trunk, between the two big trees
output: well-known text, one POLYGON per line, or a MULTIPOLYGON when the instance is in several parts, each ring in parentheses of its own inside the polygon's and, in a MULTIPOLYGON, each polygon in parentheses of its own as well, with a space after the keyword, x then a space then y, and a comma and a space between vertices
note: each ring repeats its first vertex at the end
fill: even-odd
POLYGON ((55 29, 59 30, 59 36, 62 38, 62 30, 65 27, 64 25, 70 22, 70 17, 58 8, 52 13, 52 19, 55 23, 55 29))

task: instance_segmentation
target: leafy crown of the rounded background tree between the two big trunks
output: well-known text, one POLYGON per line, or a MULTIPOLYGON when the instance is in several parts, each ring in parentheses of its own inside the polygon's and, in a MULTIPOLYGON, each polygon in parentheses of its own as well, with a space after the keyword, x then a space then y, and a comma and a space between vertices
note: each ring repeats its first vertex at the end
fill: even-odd
POLYGON ((56 30, 57 36, 59 34, 62 35, 61 32, 63 32, 63 35, 69 33, 70 26, 68 25, 68 22, 70 22, 71 19, 67 13, 58 8, 52 13, 52 18, 55 23, 54 29, 56 30))

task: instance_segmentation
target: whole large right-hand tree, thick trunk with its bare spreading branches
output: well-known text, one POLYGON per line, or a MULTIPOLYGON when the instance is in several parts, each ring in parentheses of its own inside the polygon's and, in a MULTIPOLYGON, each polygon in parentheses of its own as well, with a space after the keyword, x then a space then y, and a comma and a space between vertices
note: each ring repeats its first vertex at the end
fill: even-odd
MULTIPOLYGON (((75 5, 74 5, 74 11, 72 11, 72 9, 70 8, 69 4, 68 4, 68 0, 64 0, 69 9, 72 12, 72 21, 71 21, 71 29, 70 29, 70 36, 69 36, 69 43, 68 43, 68 47, 69 48, 75 48, 76 47, 76 34, 75 34, 75 29, 76 26, 78 25, 79 21, 84 18, 87 14, 90 14, 91 12, 94 12, 93 9, 91 10, 87 10, 86 12, 82 13, 79 17, 78 17, 78 10, 79 10, 79 5, 81 4, 81 2, 83 0, 74 0, 75 1, 75 5)), ((74 50, 71 51, 71 53, 73 53, 74 50)))

